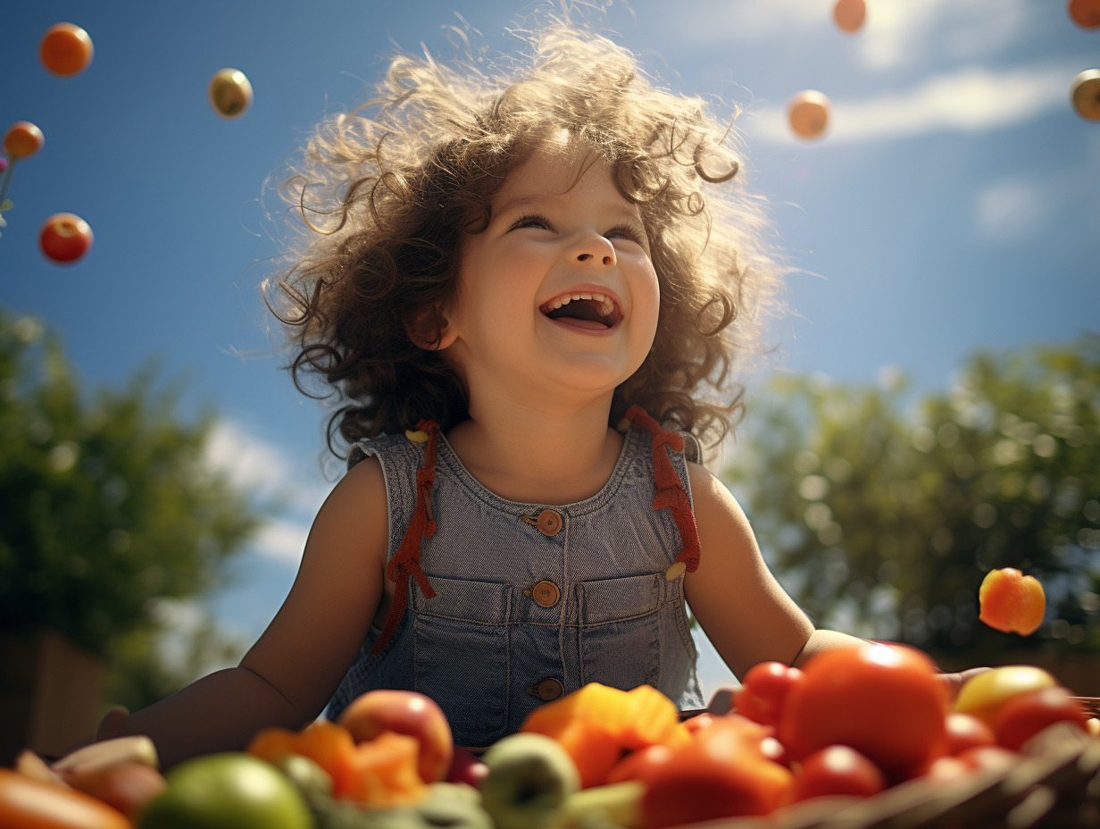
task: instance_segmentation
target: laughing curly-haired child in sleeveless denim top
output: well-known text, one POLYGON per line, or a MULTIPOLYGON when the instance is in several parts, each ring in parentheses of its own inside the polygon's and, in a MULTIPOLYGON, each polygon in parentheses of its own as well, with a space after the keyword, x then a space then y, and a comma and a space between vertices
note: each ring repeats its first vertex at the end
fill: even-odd
POLYGON ((697 708, 685 599, 736 675, 864 644, 814 630, 700 465, 777 282, 728 130, 607 40, 532 42, 512 80, 398 57, 309 143, 274 287, 349 471, 240 666, 100 737, 172 765, 377 687, 473 749, 590 681, 697 708))

